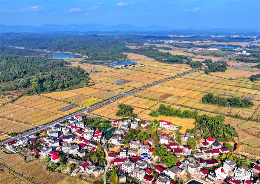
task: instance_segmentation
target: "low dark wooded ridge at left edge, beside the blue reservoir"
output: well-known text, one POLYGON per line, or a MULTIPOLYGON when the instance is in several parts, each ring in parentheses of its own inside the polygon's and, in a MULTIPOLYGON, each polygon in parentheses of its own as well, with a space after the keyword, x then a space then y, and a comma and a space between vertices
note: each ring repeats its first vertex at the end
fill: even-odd
POLYGON ((15 54, 21 56, 52 56, 51 53, 33 51, 29 49, 20 49, 15 47, 8 47, 5 45, 0 45, 0 53, 15 54))

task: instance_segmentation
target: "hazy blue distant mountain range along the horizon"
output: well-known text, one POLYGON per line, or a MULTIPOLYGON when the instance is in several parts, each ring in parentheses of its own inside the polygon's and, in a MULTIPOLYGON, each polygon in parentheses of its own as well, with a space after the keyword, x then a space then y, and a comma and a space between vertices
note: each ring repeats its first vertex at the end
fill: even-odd
MULTIPOLYGON (((190 27, 185 29, 174 29, 173 27, 152 25, 147 27, 137 27, 130 24, 119 24, 115 26, 107 26, 104 24, 44 24, 41 26, 31 25, 18 25, 18 26, 6 26, 0 24, 0 33, 51 33, 51 32, 89 32, 89 31, 177 31, 177 32, 198 32, 198 31, 210 31, 210 32, 229 32, 229 31, 241 30, 235 28, 211 28, 211 27, 190 27)), ((245 30, 245 29, 242 29, 245 30)), ((249 29, 248 29, 249 30, 249 29)))

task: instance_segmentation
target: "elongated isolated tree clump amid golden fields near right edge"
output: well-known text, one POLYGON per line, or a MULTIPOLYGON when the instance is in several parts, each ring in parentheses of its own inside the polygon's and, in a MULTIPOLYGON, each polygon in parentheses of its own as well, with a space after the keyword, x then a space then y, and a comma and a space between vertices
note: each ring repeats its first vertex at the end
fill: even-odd
POLYGON ((224 98, 220 96, 214 96, 213 93, 205 94, 202 97, 202 101, 204 103, 210 103, 210 104, 217 104, 221 106, 228 106, 231 107, 240 107, 240 108, 250 108, 254 105, 254 103, 250 99, 246 98, 238 98, 238 97, 229 97, 224 98))

